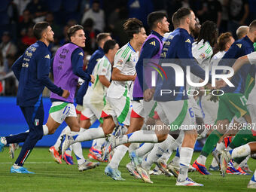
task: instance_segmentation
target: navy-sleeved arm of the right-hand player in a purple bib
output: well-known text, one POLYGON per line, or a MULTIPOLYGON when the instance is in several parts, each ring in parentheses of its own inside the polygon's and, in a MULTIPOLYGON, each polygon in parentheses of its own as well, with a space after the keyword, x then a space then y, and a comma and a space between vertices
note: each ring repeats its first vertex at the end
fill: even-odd
POLYGON ((155 56, 160 49, 159 41, 155 38, 151 38, 148 41, 145 42, 143 46, 143 50, 139 56, 139 60, 136 64, 136 73, 139 79, 139 84, 142 87, 144 87, 144 90, 148 89, 148 85, 145 84, 145 81, 143 79, 143 59, 151 59, 153 56, 155 56))

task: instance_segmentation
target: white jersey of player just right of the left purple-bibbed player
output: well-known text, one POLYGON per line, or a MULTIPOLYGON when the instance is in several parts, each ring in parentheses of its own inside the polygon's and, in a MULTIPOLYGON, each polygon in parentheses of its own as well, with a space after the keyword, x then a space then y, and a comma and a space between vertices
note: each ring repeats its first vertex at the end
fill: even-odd
POLYGON ((96 78, 96 80, 92 86, 88 87, 87 93, 84 96, 84 104, 90 103, 93 105, 103 102, 108 87, 105 87, 99 81, 99 75, 104 75, 108 81, 111 79, 111 63, 108 61, 106 56, 103 56, 101 59, 99 59, 93 69, 93 76, 96 78))

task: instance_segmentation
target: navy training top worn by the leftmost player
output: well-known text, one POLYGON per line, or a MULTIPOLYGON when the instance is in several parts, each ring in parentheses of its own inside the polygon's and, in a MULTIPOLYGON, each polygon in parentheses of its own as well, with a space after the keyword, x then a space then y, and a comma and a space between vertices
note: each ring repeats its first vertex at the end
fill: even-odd
POLYGON ((53 93, 62 95, 63 90, 50 81, 50 51, 42 41, 36 41, 28 47, 11 68, 19 81, 17 105, 42 105, 41 96, 44 87, 53 93))

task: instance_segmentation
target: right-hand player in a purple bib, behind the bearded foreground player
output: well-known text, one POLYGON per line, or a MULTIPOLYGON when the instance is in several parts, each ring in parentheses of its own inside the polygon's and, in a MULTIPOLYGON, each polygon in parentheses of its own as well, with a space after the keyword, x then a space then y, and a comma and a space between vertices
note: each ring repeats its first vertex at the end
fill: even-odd
MULTIPOLYGON (((153 101, 147 102, 147 103, 143 101, 143 90, 144 90, 143 88, 145 89, 151 88, 151 81, 148 81, 148 88, 146 88, 145 86, 147 85, 145 85, 144 79, 145 78, 147 80, 150 79, 151 71, 152 71, 148 69, 147 72, 145 72, 145 75, 143 75, 143 60, 153 59, 152 60, 153 62, 157 62, 156 59, 160 58, 160 53, 163 48, 163 43, 162 43, 163 35, 166 32, 169 32, 169 22, 167 21, 166 14, 160 11, 152 12, 151 14, 148 15, 148 26, 152 29, 152 31, 151 31, 151 34, 146 39, 145 43, 142 45, 142 49, 140 50, 139 60, 136 64, 137 77, 133 87, 133 100, 132 100, 133 108, 132 108, 131 117, 130 117, 130 126, 127 132, 125 133, 126 135, 129 133, 133 133, 137 130, 141 130, 142 125, 145 121, 145 118, 148 117, 148 114, 150 113, 150 110, 151 108, 153 108, 155 103, 153 101), (146 75, 148 75, 148 77, 145 77, 146 75), (147 105, 146 107, 149 109, 149 111, 145 109, 145 105, 147 105)), ((115 163, 119 165, 120 160, 122 160, 123 158, 120 156, 120 154, 124 156, 125 155, 124 151, 127 151, 129 146, 130 146, 130 143, 118 146, 116 148, 116 151, 114 152, 114 156, 111 162, 115 161, 115 163), (120 151, 123 151, 123 153, 121 153, 120 151), (119 155, 118 158, 117 158, 117 154, 119 155)), ((112 148, 114 148, 114 146, 112 146, 111 144, 109 146, 107 145, 106 153, 108 154, 112 148)), ((159 148, 159 146, 157 145, 155 148, 159 148)), ((156 151, 156 149, 154 151, 156 151)), ((113 164, 111 162, 109 163, 109 165, 113 164)), ((134 167, 132 167, 131 165, 130 166, 128 165, 126 167, 135 176, 138 175, 134 167)), ((142 173, 140 175, 142 175, 142 173)))

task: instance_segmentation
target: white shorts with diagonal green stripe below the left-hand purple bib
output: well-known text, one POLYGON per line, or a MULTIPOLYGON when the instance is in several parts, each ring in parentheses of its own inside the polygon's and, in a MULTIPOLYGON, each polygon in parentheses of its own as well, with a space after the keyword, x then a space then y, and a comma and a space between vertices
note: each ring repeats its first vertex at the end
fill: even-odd
POLYGON ((77 117, 75 105, 69 102, 53 102, 49 111, 50 117, 57 123, 62 123, 66 117, 77 117))

